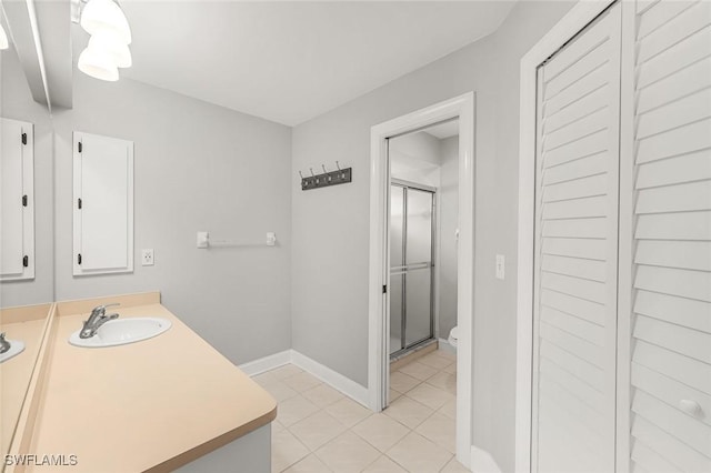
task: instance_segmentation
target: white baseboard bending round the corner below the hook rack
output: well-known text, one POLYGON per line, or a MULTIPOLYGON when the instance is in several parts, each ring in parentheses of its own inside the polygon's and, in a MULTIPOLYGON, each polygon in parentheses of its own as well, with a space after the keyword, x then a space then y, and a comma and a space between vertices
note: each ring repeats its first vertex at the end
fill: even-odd
MULTIPOLYGON (((368 389, 296 350, 284 350, 239 365, 250 376, 292 363, 368 407, 368 389)), ((370 409, 370 407, 369 407, 370 409)))

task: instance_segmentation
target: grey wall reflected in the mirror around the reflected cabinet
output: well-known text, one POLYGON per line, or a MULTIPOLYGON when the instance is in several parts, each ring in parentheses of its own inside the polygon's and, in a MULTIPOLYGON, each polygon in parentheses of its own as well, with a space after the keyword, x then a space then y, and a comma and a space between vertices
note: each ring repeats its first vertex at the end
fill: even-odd
POLYGON ((32 100, 12 48, 0 52, 0 117, 34 123, 34 279, 0 283, 0 306, 54 300, 53 140, 47 108, 32 100))

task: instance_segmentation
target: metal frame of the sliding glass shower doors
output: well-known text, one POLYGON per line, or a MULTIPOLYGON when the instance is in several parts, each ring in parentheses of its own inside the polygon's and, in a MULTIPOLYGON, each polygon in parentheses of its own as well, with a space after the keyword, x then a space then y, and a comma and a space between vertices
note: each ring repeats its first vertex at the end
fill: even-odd
MULTIPOLYGON (((395 179, 392 178, 390 179, 390 185, 397 185, 399 188, 402 188, 403 193, 402 193, 402 264, 400 266, 394 266, 400 269, 399 272, 393 273, 393 266, 390 266, 390 276, 393 275, 401 275, 402 274, 402 294, 401 294, 401 305, 400 305, 400 350, 389 353, 390 358, 397 358, 403 353, 405 353, 408 350, 411 350, 413 348, 417 348, 418 345, 428 342, 430 340, 432 340, 434 338, 434 255, 435 255, 435 238, 437 238, 437 188, 430 187, 430 185, 424 185, 424 184, 419 184, 417 182, 411 182, 411 181, 405 181, 402 179, 395 179), (430 334, 429 336, 425 336, 424 339, 418 340, 413 343, 411 343, 410 345, 408 345, 407 343, 407 326, 408 326, 408 318, 407 318, 407 313, 408 313, 408 271, 409 271, 409 266, 410 264, 408 264, 407 259, 408 259, 408 189, 414 189, 417 191, 420 192, 429 192, 430 194, 432 194, 432 214, 431 214, 431 234, 430 234, 430 262, 429 262, 429 268, 430 268, 430 334)), ((420 268, 422 264, 427 264, 425 262, 422 263, 414 263, 411 264, 413 266, 418 266, 418 268, 412 268, 412 270, 421 270, 424 269, 427 266, 422 266, 420 268)), ((389 284, 390 285, 390 284, 389 284)), ((390 285, 391 286, 391 285, 390 285)))

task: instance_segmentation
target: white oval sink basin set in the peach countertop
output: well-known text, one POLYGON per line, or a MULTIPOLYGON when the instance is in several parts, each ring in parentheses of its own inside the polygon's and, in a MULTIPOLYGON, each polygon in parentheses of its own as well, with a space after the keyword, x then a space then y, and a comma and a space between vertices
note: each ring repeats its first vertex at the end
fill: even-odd
POLYGON ((170 325, 169 320, 149 316, 116 319, 101 325, 90 339, 80 339, 80 330, 76 331, 69 336, 69 343, 89 349, 126 345, 158 336, 170 325))

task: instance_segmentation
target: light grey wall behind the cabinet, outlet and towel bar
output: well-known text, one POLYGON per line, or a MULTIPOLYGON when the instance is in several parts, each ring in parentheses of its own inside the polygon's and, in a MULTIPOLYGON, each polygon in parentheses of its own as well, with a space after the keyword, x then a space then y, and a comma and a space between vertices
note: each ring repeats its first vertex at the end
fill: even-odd
POLYGON ((291 348, 290 128, 77 72, 74 108, 56 111, 54 130, 57 300, 160 290, 168 309, 234 363, 291 348), (72 276, 74 130, 134 142, 131 274, 72 276), (199 230, 248 245, 199 250, 199 230), (274 248, 264 245, 268 231, 274 248), (141 266, 143 248, 154 250, 154 266, 141 266))

